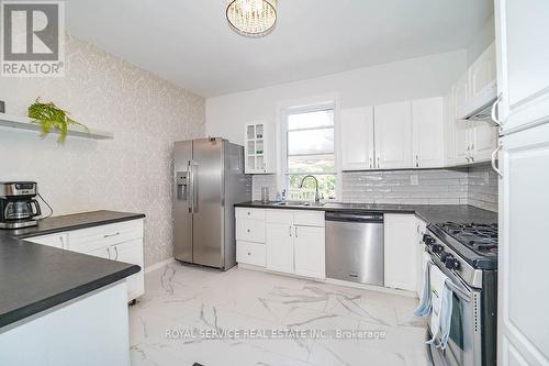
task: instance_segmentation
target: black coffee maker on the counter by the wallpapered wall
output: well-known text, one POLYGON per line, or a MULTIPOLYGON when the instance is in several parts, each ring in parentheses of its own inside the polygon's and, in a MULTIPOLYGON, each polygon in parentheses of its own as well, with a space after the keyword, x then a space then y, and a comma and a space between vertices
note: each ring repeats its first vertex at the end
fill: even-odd
POLYGON ((34 226, 35 218, 42 214, 36 182, 7 181, 0 182, 0 229, 21 229, 34 226))

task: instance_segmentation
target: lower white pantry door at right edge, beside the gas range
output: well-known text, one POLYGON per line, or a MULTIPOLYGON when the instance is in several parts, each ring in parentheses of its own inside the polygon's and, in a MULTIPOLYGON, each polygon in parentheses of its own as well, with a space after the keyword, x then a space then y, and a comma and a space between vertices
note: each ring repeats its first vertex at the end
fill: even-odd
POLYGON ((502 138, 498 365, 549 365, 549 124, 502 138))

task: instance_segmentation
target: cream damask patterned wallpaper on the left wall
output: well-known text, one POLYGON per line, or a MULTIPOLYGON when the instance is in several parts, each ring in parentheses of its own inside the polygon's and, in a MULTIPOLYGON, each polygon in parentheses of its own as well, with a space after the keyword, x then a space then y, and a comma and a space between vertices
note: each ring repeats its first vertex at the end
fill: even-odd
POLYGON ((7 113, 24 115, 41 97, 114 140, 61 146, 56 136, 0 130, 0 180, 36 180, 56 215, 143 212, 145 265, 170 258, 172 142, 204 136, 204 99, 70 36, 66 53, 64 78, 0 78, 7 113))

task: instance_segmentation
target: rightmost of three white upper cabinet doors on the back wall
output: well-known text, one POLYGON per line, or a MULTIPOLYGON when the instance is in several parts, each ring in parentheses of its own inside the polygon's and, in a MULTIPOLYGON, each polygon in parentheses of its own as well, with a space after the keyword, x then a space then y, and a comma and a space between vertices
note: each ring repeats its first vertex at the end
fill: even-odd
POLYGON ((444 99, 412 101, 413 158, 416 168, 444 165, 444 99))

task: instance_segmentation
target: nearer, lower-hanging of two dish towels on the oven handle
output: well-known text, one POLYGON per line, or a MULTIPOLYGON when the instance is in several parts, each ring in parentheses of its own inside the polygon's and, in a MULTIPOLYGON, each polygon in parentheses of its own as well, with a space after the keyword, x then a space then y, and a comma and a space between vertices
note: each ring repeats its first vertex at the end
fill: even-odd
POLYGON ((430 332, 433 339, 428 344, 446 350, 450 336, 452 312, 452 290, 446 285, 450 279, 437 267, 430 266, 430 332))

